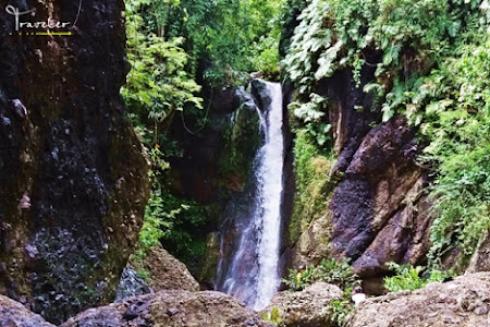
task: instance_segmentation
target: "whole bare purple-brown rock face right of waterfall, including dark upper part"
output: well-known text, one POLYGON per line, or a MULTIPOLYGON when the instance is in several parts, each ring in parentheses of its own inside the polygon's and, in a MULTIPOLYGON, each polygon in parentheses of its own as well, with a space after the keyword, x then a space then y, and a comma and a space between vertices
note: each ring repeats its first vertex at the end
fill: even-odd
POLYGON ((419 264, 428 251, 427 171, 416 165, 415 131, 402 117, 381 123, 363 92, 372 73, 363 70, 360 87, 348 70, 318 86, 330 100, 338 162, 326 173, 334 190, 329 210, 295 244, 294 265, 348 257, 363 279, 380 280, 387 262, 419 264))

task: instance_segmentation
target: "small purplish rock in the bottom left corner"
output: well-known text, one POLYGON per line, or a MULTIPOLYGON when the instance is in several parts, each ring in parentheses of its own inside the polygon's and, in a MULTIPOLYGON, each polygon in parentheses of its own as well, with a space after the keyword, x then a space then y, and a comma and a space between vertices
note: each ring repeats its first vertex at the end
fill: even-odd
POLYGON ((29 312, 21 303, 0 295, 0 326, 4 327, 54 327, 41 316, 29 312))

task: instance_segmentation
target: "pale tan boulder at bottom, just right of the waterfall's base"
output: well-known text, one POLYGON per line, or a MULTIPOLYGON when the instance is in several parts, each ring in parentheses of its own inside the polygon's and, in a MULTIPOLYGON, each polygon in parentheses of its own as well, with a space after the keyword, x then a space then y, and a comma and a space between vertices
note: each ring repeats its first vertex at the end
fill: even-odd
POLYGON ((342 291, 334 284, 316 282, 299 292, 277 293, 265 312, 274 307, 279 311, 281 326, 285 327, 334 327, 331 322, 330 304, 342 298, 342 291))

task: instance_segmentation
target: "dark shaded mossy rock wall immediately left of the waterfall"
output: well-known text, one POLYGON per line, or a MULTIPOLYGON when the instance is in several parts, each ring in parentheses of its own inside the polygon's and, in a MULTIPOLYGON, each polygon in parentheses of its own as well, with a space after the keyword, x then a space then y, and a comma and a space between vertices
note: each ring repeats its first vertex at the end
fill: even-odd
MULTIPOLYGON (((169 189, 175 197, 195 201, 203 208, 203 222, 184 227, 193 246, 199 250, 219 231, 228 201, 245 192, 259 142, 256 104, 244 87, 212 90, 208 99, 210 104, 203 112, 207 119, 196 121, 195 113, 184 114, 169 129, 169 137, 181 150, 169 158, 169 189)), ((185 256, 174 243, 162 244, 201 283, 211 286, 218 265, 216 249, 185 256)))

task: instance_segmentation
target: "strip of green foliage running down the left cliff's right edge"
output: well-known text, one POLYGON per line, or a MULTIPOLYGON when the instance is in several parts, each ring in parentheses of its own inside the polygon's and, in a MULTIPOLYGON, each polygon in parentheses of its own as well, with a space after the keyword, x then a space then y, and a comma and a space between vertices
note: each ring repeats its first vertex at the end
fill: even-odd
MULTIPOLYGON (((186 73, 187 53, 180 47, 183 39, 166 39, 158 31, 148 31, 140 15, 149 2, 126 1, 127 59, 132 70, 122 89, 128 117, 148 148, 151 161, 151 197, 139 235, 137 256, 166 242, 169 251, 183 259, 204 253, 196 249, 187 228, 198 228, 206 218, 203 209, 193 202, 173 197, 164 182, 169 168, 167 157, 179 155, 168 142, 163 130, 179 111, 203 108, 196 94, 200 86, 186 73), (160 144, 166 144, 164 149, 160 144)), ((200 246, 203 247, 203 246, 200 246)))

